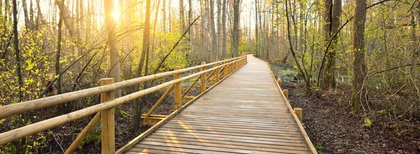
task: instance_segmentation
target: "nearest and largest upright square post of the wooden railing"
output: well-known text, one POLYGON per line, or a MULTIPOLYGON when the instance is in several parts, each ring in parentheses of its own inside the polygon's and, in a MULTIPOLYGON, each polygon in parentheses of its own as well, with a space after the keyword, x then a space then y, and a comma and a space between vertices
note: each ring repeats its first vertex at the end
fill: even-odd
MULTIPOLYGON (((101 85, 114 83, 113 78, 102 78, 101 85)), ((115 98, 115 91, 101 93, 101 103, 109 102, 115 98)), ((116 133, 115 133, 115 109, 105 109, 101 111, 101 144, 102 153, 116 152, 116 133)))

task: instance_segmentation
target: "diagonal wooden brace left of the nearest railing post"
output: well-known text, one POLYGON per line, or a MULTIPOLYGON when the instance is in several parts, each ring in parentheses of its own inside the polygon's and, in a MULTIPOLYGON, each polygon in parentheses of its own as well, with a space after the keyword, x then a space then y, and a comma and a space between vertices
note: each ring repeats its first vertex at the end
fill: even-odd
POLYGON ((100 119, 101 119, 101 113, 97 113, 92 118, 92 120, 90 120, 90 122, 87 124, 87 126, 82 130, 82 132, 80 132, 80 134, 78 134, 76 139, 73 141, 73 143, 71 143, 71 145, 69 146, 69 148, 67 148, 67 150, 64 154, 70 154, 70 153, 73 153, 74 151, 76 151, 76 149, 78 148, 80 143, 82 143, 83 139, 85 139, 87 137, 87 135, 89 135, 90 132, 92 132, 92 130, 94 129, 94 126, 97 125, 97 123, 99 123, 100 119))

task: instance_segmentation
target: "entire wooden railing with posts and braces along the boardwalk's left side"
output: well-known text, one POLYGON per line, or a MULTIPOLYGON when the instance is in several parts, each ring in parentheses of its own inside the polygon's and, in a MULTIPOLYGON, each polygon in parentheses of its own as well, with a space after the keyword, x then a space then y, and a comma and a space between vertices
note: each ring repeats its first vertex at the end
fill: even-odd
POLYGON ((78 111, 73 111, 71 113, 64 114, 62 116, 57 116, 55 118, 50 118, 47 120, 40 121, 38 123, 33 123, 31 125, 26 125, 8 132, 1 132, 0 134, 0 146, 8 144, 11 141, 16 141, 27 137, 38 132, 42 132, 53 127, 58 127, 65 123, 69 123, 80 118, 90 116, 94 113, 96 115, 90 123, 78 134, 78 137, 73 141, 71 146, 67 148, 65 153, 73 153, 76 151, 76 148, 85 137, 87 137, 90 132, 94 129, 94 126, 101 122, 101 136, 102 136, 102 153, 114 153, 115 152, 115 117, 114 117, 114 107, 120 104, 124 104, 133 99, 137 99, 151 92, 161 90, 165 87, 169 87, 166 92, 160 97, 158 102, 156 102, 150 111, 142 116, 144 122, 151 123, 153 117, 152 113, 162 101, 167 97, 167 95, 174 90, 174 112, 176 112, 183 102, 188 102, 188 100, 193 99, 193 97, 187 97, 186 94, 194 87, 197 81, 200 79, 200 91, 204 92, 207 90, 207 82, 211 80, 212 82, 218 82, 221 78, 226 78, 230 73, 236 71, 241 66, 246 64, 246 56, 236 57, 232 59, 225 59, 223 61, 213 62, 206 64, 202 62, 199 66, 193 66, 186 69, 181 69, 181 67, 175 67, 174 71, 168 71, 165 73, 153 74, 151 76, 144 76, 141 78, 134 78, 131 80, 125 80, 118 83, 114 83, 113 78, 102 78, 100 80, 101 86, 92 87, 85 90, 78 90, 75 92, 69 92, 66 94, 58 94, 52 97, 45 97, 41 99, 34 99, 27 102, 21 102, 18 104, 10 104, 6 106, 0 106, 0 119, 7 118, 8 116, 13 116, 16 114, 27 113, 29 111, 34 111, 38 109, 44 109, 48 106, 55 106, 58 104, 64 104, 66 102, 71 102, 76 99, 83 99, 96 94, 101 94, 101 103, 94 106, 89 106, 85 109, 80 109, 78 111), (208 68, 209 67, 209 68, 208 68), (188 71, 195 71, 200 69, 199 72, 190 74, 188 76, 182 76, 182 73, 188 71), (223 75, 221 75, 223 74, 223 75), (166 83, 160 85, 155 85, 149 87, 146 90, 141 90, 134 92, 132 94, 127 94, 123 97, 114 98, 115 90, 129 87, 132 85, 144 83, 148 80, 155 80, 158 78, 164 78, 166 76, 174 76, 174 80, 170 80, 166 83), (182 92, 181 82, 183 80, 188 80, 190 78, 195 78, 195 81, 184 91, 182 92))

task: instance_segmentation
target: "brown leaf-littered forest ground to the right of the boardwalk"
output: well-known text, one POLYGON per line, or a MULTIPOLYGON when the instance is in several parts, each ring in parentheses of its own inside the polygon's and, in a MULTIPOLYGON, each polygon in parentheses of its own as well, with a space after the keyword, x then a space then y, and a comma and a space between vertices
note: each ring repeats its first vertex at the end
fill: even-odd
MULTIPOLYGON (((292 69, 275 64, 272 68, 292 69)), ((363 113, 352 113, 346 103, 349 88, 341 87, 322 97, 309 96, 302 83, 290 80, 295 76, 293 71, 286 72, 292 75, 279 75, 283 79, 281 87, 289 90, 290 105, 302 108, 305 130, 319 153, 420 153, 419 121, 375 114, 367 127, 363 113)))

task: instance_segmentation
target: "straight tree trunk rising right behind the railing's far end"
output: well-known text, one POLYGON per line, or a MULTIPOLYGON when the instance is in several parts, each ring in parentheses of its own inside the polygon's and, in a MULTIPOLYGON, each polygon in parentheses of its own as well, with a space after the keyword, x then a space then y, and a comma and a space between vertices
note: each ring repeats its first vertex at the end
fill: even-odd
POLYGON ((241 16, 240 8, 241 8, 241 0, 234 0, 233 1, 233 57, 238 56, 239 50, 239 38, 240 38, 240 31, 239 31, 239 19, 241 16))

